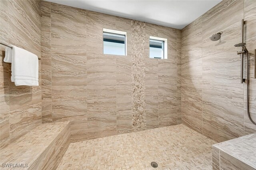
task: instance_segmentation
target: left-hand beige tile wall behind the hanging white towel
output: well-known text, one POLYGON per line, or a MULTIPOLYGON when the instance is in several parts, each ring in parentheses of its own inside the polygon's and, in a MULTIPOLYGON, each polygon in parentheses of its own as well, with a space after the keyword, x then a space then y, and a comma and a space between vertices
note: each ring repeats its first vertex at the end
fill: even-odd
MULTIPOLYGON (((40 58, 40 32, 39 1, 0 1, 0 42, 24 48, 40 58)), ((0 45, 0 148, 42 122, 41 71, 40 86, 15 86, 10 81, 11 64, 4 63, 4 55, 5 46, 0 45)))

